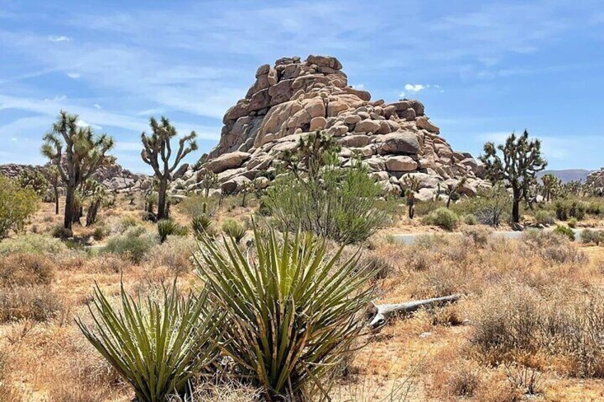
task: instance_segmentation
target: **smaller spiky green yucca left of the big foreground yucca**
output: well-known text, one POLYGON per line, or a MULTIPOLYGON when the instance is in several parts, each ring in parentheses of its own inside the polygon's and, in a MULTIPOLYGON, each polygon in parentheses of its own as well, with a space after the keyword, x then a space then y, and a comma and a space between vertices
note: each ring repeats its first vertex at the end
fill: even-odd
POLYGON ((90 343, 127 381, 139 402, 163 402, 186 390, 189 380, 216 356, 220 317, 206 310, 207 293, 181 297, 176 284, 163 288, 159 302, 128 296, 121 290, 121 311, 95 286, 90 314, 78 327, 90 343))

